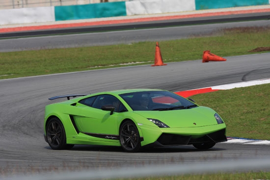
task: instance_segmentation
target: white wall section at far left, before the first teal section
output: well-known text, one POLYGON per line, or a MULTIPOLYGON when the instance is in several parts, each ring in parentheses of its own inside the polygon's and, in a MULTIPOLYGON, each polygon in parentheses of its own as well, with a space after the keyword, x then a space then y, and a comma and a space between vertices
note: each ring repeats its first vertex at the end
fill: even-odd
POLYGON ((0 10, 0 25, 54 22, 54 7, 0 10))

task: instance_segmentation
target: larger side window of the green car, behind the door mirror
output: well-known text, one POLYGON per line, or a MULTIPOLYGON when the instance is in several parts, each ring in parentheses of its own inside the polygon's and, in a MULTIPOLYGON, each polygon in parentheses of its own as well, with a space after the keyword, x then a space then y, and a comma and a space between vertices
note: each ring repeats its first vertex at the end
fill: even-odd
POLYGON ((96 100, 91 106, 94 108, 101 109, 103 105, 113 105, 115 107, 114 112, 127 111, 125 106, 117 98, 111 95, 97 96, 96 100))

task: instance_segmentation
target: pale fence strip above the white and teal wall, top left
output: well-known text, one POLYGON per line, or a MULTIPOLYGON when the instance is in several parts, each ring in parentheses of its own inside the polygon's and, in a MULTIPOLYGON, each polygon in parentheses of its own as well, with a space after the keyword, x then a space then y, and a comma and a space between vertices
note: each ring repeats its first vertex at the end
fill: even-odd
POLYGON ((77 4, 90 4, 90 3, 115 2, 115 1, 129 1, 129 0, 1 0, 0 9, 77 5, 77 4))

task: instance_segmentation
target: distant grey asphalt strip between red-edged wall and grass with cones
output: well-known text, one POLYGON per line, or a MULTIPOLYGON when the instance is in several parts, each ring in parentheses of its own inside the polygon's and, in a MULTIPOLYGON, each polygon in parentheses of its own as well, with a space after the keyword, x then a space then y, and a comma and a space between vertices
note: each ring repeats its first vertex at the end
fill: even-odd
POLYGON ((223 28, 247 26, 270 26, 270 20, 0 39, 0 52, 156 42, 220 34, 223 28))

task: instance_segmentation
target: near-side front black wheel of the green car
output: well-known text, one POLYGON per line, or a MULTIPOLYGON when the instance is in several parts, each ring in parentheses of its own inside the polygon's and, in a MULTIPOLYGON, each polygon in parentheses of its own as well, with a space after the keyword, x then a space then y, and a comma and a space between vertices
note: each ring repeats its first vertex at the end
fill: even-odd
POLYGON ((119 138, 122 148, 126 152, 138 152, 141 148, 140 135, 132 121, 125 121, 119 129, 119 138))

